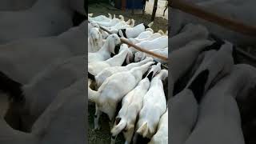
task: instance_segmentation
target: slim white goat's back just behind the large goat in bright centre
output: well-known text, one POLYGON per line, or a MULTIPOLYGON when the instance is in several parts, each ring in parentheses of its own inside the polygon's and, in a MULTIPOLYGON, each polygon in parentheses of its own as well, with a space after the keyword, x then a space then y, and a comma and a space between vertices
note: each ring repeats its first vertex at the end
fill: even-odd
POLYGON ((122 71, 128 71, 131 70, 134 67, 142 66, 146 64, 147 62, 153 62, 153 58, 145 58, 141 62, 137 63, 130 63, 127 66, 113 66, 113 67, 108 67, 104 70, 102 70, 99 74, 95 76, 95 81, 97 83, 97 86, 101 86, 102 83, 106 80, 106 78, 109 78, 112 74, 122 72, 122 71))

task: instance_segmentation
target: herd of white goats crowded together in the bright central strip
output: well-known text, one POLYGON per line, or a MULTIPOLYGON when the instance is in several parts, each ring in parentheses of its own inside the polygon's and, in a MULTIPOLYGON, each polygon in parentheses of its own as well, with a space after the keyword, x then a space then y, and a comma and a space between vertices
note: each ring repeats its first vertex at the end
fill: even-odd
POLYGON ((90 14, 88 19, 88 97, 95 102, 94 129, 100 129, 98 121, 103 112, 110 119, 112 144, 120 133, 126 144, 141 143, 142 139, 167 144, 167 94, 162 81, 167 79, 168 70, 161 65, 167 62, 121 44, 119 38, 168 57, 167 31, 154 33, 150 28, 153 22, 135 26, 134 19, 126 22, 122 15, 90 14), (119 102, 122 108, 118 111, 119 102))

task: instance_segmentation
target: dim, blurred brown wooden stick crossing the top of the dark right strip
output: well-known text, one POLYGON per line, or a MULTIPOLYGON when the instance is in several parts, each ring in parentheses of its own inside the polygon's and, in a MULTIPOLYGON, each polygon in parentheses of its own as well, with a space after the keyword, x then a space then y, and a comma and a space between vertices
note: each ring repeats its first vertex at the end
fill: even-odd
POLYGON ((169 6, 182 10, 188 14, 193 14, 199 18, 205 19, 209 22, 214 22, 219 26, 224 26, 230 30, 240 32, 241 34, 246 34, 255 37, 256 36, 256 26, 249 26, 242 22, 238 22, 231 18, 225 18, 218 14, 211 13, 208 10, 203 9, 200 6, 191 4, 190 2, 184 2, 182 0, 172 0, 169 2, 169 6))

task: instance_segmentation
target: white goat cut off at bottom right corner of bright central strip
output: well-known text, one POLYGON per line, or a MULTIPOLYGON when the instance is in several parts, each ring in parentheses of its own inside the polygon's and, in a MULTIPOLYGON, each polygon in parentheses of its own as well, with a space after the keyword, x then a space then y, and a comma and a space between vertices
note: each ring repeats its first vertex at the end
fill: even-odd
POLYGON ((149 144, 168 144, 168 109, 162 114, 158 124, 158 131, 151 138, 149 144))

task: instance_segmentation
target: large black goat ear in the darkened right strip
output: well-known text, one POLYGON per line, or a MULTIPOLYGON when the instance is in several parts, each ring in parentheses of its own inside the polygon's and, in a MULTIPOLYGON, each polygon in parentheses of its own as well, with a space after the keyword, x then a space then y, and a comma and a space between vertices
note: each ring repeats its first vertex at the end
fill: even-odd
POLYGON ((196 78, 194 78, 190 86, 188 86, 188 89, 192 90, 198 103, 202 100, 208 76, 209 70, 203 70, 196 78))

